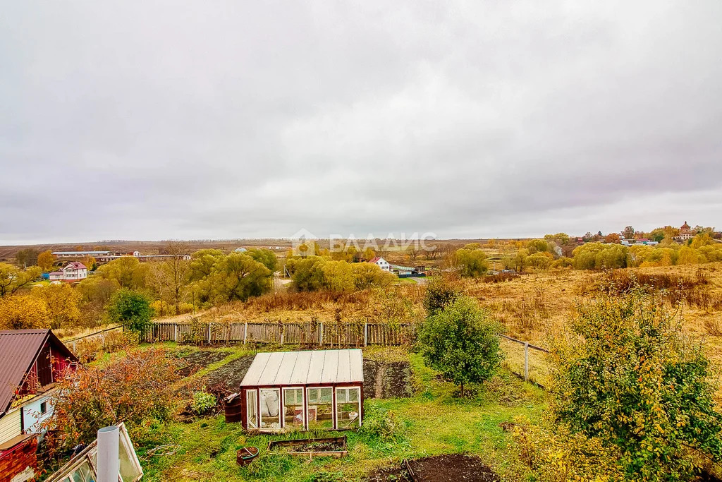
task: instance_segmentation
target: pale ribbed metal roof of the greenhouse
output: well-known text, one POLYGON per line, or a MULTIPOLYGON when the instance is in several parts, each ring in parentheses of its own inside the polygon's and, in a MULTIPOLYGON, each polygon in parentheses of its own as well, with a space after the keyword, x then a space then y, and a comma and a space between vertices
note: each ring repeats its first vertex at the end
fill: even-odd
POLYGON ((363 382, 361 350, 258 353, 241 387, 363 382))

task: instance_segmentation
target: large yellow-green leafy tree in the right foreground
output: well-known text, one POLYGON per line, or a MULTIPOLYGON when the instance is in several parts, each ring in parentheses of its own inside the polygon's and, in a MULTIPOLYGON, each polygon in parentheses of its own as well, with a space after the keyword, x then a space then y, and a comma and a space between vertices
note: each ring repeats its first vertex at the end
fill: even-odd
POLYGON ((552 344, 554 415, 619 448, 630 481, 691 480, 722 461, 722 415, 703 347, 640 287, 578 306, 552 344))

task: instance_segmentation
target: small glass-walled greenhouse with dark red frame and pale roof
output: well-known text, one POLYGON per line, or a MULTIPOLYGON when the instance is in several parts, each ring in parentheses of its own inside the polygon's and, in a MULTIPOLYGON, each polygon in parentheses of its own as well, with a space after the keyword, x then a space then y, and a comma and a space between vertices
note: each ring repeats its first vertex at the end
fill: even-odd
POLYGON ((363 419, 361 350, 258 353, 238 395, 249 431, 355 429, 363 419))

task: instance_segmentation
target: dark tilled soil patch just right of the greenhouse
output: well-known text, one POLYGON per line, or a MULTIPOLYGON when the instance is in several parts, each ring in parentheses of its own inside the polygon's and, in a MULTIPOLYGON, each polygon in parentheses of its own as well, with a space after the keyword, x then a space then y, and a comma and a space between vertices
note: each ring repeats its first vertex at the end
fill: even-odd
POLYGON ((363 393, 367 398, 412 397, 411 367, 407 361, 363 361, 363 393))

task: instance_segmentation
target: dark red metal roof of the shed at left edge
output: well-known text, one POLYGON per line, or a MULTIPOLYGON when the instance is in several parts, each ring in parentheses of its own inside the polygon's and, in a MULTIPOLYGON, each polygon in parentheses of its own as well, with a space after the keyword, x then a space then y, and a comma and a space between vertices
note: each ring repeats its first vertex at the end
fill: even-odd
POLYGON ((16 390, 48 341, 64 356, 77 361, 51 330, 0 330, 0 415, 12 405, 16 390))

